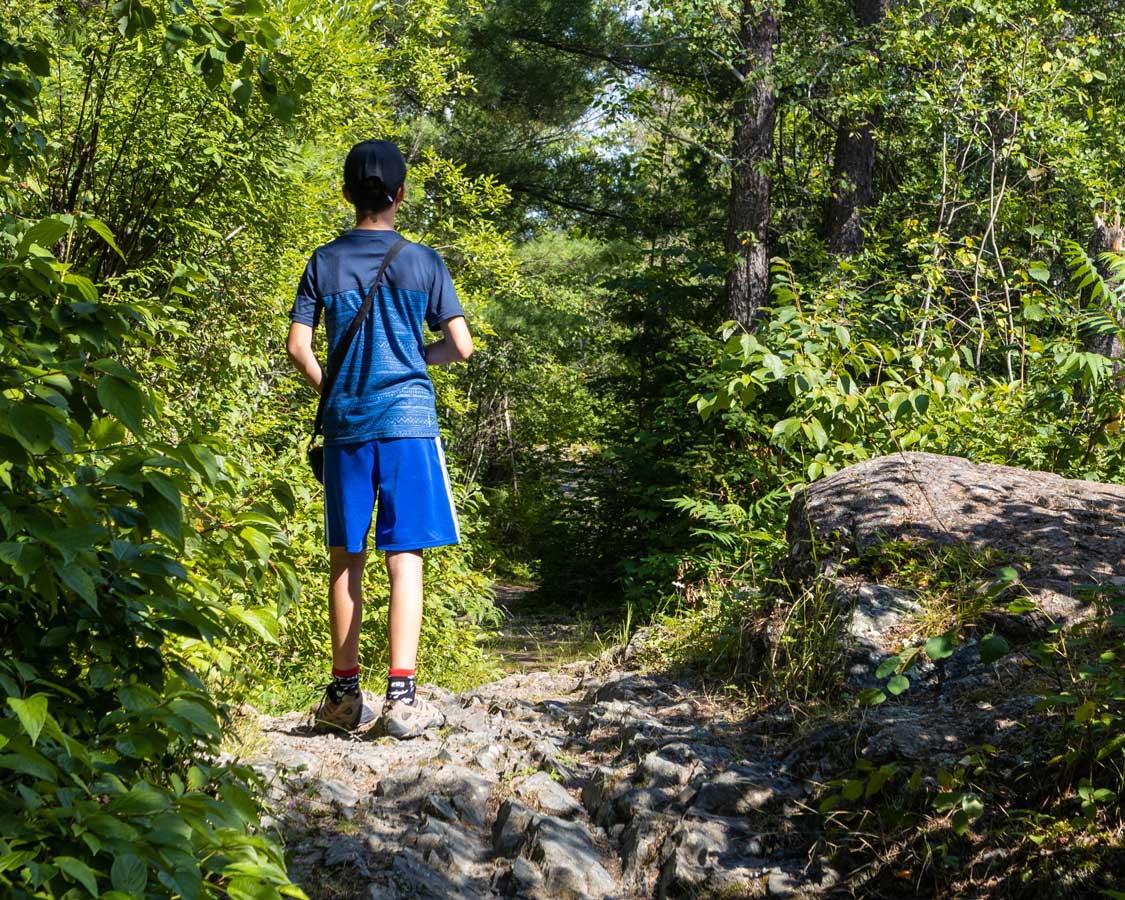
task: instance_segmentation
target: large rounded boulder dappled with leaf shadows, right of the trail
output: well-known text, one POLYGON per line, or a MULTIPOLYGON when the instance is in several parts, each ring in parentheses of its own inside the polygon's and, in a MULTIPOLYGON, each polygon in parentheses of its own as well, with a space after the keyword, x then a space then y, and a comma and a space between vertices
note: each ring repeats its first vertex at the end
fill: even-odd
POLYGON ((1024 562, 1024 583, 1074 596, 1125 584, 1125 485, 892 453, 849 466, 793 498, 789 570, 843 559, 891 540, 964 544, 1024 562))

